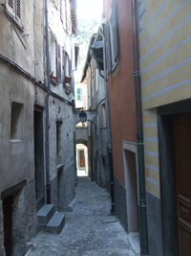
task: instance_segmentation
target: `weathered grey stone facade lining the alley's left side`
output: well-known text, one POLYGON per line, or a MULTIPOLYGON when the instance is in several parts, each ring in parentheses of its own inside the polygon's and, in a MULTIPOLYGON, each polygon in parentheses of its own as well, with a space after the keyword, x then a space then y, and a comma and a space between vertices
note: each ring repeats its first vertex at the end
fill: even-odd
POLYGON ((0 255, 25 254, 26 242, 38 230, 36 212, 47 202, 47 186, 56 210, 69 210, 74 198, 73 82, 66 81, 73 76, 71 13, 73 1, 48 0, 48 96, 45 1, 1 3, 0 255))

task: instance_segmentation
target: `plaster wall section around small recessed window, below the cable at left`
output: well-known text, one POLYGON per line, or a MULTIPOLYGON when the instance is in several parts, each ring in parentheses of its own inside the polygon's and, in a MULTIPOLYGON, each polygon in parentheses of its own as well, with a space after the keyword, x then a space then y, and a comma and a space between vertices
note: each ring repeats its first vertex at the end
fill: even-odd
POLYGON ((0 61, 1 89, 4 97, 0 102, 0 142, 4 149, 0 155, 0 192, 27 179, 33 179, 33 104, 34 86, 11 67, 0 61), (23 105, 23 136, 11 140, 11 103, 23 105))

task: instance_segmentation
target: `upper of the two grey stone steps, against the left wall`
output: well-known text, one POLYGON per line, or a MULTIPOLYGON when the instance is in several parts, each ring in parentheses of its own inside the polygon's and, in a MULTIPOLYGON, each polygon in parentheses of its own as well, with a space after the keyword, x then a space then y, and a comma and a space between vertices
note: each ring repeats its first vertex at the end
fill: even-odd
POLYGON ((52 219, 54 214, 54 205, 53 204, 45 204, 38 212, 37 212, 37 221, 39 226, 46 226, 47 223, 52 219))

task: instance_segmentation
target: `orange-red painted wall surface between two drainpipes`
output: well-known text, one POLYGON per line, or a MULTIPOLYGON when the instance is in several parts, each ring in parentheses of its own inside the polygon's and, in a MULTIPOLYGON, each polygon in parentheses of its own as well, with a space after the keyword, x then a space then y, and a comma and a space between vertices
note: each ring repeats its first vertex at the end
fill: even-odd
MULTIPOLYGON (((111 0, 105 0, 108 19, 111 0)), ((114 173, 124 185, 122 141, 137 142, 137 117, 134 82, 134 59, 131 1, 116 0, 118 20, 119 70, 113 79, 109 74, 109 105, 113 141, 114 173)))

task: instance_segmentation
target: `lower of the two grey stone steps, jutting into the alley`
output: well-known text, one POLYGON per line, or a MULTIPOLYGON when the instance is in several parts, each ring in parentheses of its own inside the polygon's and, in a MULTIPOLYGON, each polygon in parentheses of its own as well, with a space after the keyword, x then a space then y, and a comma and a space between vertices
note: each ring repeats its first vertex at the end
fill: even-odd
POLYGON ((46 231, 53 234, 60 234, 65 225, 65 216, 63 213, 55 212, 53 218, 46 226, 46 231))

